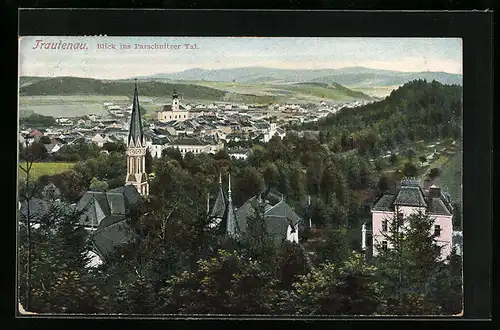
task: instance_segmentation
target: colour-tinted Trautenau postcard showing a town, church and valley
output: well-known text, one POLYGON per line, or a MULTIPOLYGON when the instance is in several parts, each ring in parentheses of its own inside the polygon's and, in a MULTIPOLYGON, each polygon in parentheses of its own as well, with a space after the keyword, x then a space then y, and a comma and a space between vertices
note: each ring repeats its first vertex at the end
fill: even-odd
POLYGON ((22 314, 453 316, 462 39, 19 38, 22 314))

